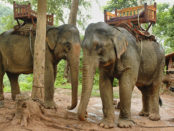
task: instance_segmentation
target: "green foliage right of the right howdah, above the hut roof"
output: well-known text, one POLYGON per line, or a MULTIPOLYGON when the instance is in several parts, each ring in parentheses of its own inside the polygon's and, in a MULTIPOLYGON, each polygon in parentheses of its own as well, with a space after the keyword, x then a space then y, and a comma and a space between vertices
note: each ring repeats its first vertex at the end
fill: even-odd
POLYGON ((153 33, 164 43, 166 53, 171 53, 174 51, 174 6, 159 4, 157 8, 157 23, 153 27, 153 33))

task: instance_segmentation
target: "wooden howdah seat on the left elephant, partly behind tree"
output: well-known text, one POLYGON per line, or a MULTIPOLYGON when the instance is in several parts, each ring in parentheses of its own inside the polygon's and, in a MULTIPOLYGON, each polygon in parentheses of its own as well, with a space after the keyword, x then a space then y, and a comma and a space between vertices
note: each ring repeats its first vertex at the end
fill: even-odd
MULTIPOLYGON (((13 2, 13 10, 14 10, 14 19, 17 21, 18 25, 20 25, 19 20, 22 20, 24 23, 32 23, 36 25, 37 22, 37 13, 31 9, 31 4, 27 5, 19 5, 16 2, 13 2)), ((53 25, 54 17, 53 14, 47 15, 47 25, 53 25)))

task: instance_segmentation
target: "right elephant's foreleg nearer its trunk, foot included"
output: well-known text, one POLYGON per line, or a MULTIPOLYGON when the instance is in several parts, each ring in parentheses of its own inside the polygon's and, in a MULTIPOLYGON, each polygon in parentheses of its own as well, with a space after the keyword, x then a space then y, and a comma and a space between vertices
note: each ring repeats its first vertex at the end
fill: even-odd
POLYGON ((115 123, 114 106, 113 106, 113 78, 110 78, 107 73, 100 71, 100 95, 103 104, 103 120, 100 126, 104 128, 112 128, 115 123))

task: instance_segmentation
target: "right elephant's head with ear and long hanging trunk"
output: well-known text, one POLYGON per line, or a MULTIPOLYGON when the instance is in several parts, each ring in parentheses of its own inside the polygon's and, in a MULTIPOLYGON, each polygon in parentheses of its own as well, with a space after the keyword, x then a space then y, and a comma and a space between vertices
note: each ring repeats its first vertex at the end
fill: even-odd
MULTIPOLYGON (((127 42, 119 29, 106 23, 90 24, 82 42, 83 79, 82 95, 78 108, 78 117, 84 120, 89 97, 93 87, 93 78, 97 67, 111 69, 127 48, 127 42), (107 68, 109 67, 109 68, 107 68)), ((113 73, 113 72, 112 72, 113 73)))

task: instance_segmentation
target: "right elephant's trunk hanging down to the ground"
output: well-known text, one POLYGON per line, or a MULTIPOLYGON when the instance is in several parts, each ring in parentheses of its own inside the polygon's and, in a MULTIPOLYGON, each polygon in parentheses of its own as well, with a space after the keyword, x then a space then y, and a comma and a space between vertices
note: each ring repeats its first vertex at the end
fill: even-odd
POLYGON ((83 61, 83 78, 82 78, 82 94, 81 100, 78 107, 78 118, 80 120, 85 120, 86 109, 89 102, 89 98, 91 95, 92 87, 93 87, 93 80, 94 80, 94 60, 89 60, 90 57, 85 58, 83 61))

